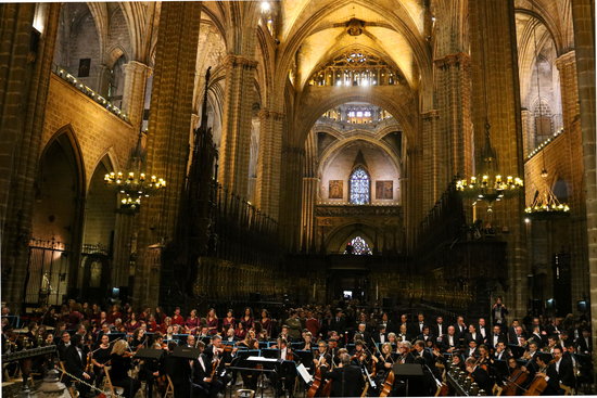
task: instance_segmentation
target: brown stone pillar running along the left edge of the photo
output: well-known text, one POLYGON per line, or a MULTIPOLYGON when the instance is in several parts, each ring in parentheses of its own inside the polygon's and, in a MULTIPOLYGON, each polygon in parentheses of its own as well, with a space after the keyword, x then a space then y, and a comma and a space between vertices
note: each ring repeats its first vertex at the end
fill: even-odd
POLYGON ((2 299, 15 311, 27 272, 34 183, 60 15, 59 3, 38 7, 47 12, 33 50, 36 4, 0 5, 0 264, 2 299))

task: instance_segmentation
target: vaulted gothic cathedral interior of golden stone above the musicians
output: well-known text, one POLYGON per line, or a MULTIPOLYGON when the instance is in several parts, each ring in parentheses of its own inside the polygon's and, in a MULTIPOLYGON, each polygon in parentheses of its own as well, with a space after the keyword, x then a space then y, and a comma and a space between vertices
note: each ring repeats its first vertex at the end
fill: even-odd
POLYGON ((503 297, 597 344, 593 0, 0 10, 3 316, 503 297))

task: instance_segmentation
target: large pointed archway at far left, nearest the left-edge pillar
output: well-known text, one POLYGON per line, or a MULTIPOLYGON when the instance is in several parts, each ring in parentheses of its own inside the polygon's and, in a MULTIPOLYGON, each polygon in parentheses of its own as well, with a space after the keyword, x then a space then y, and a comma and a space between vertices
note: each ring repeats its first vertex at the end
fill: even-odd
POLYGON ((25 304, 62 304, 75 297, 82 227, 84 168, 71 130, 46 146, 35 182, 25 304))

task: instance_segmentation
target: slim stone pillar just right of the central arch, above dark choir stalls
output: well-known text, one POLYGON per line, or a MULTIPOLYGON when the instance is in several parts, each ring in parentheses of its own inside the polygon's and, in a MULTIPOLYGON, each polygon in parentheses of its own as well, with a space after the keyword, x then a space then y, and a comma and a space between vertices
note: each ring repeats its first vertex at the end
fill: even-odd
MULTIPOLYGON (((440 174, 443 174, 444 170, 441 170, 440 162, 445 157, 445 142, 439 139, 437 134, 437 116, 439 113, 436 110, 431 110, 421 114, 422 118, 422 170, 421 179, 419 180, 422 183, 422 197, 423 203, 422 207, 418 213, 419 217, 424 217, 424 214, 433 207, 433 204, 445 187, 442 187, 440 174), (420 213, 422 210, 422 213, 420 213)), ((415 170, 410 170, 411 172, 415 170)), ((410 185, 412 188, 412 185, 410 185)))

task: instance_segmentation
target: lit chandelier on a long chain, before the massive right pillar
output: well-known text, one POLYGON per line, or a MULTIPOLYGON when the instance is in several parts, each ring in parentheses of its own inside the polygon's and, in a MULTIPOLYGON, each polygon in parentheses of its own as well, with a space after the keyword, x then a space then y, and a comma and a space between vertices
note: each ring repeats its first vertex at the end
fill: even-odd
MULTIPOLYGON (((485 14, 486 20, 486 14, 485 14)), ((470 178, 465 178, 456 181, 456 190, 463 197, 477 201, 483 201, 487 204, 488 222, 493 213, 495 202, 504 197, 513 196, 523 187, 523 181, 517 176, 504 176, 497 170, 497 154, 492 146, 491 141, 491 125, 488 120, 487 106, 487 79, 485 74, 485 30, 483 31, 483 99, 485 105, 485 143, 481 152, 482 165, 479 168, 479 174, 470 178)))

